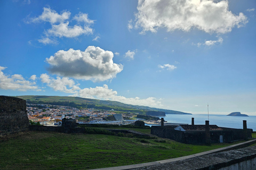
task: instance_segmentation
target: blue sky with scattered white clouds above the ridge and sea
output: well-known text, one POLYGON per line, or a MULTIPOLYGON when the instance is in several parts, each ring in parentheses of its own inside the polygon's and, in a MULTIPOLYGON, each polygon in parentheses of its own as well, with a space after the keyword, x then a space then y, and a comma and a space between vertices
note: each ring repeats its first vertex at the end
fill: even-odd
POLYGON ((0 95, 256 116, 256 2, 0 1, 0 95))

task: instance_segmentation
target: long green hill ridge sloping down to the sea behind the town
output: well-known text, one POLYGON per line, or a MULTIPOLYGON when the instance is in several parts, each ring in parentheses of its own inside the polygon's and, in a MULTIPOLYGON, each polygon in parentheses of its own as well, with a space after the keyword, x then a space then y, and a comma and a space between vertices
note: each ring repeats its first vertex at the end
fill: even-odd
POLYGON ((161 109, 155 107, 148 107, 148 106, 138 106, 138 105, 129 105, 124 104, 118 101, 111 101, 111 100, 99 100, 99 99, 88 99, 82 97, 68 97, 68 96, 13 96, 18 97, 24 100, 27 100, 28 103, 44 103, 44 104, 52 104, 54 103, 57 105, 58 103, 67 103, 69 106, 75 104, 81 107, 83 106, 97 106, 99 108, 105 109, 110 107, 121 107, 125 109, 138 109, 143 111, 158 111, 158 112, 165 112, 165 114, 191 114, 179 111, 172 111, 169 109, 161 109))

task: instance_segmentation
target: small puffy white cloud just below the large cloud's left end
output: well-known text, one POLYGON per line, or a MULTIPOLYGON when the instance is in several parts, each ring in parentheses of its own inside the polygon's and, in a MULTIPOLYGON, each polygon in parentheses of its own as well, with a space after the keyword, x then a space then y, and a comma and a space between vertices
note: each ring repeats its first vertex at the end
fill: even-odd
POLYGON ((78 87, 79 84, 75 85, 74 80, 69 78, 60 78, 57 79, 51 78, 47 74, 41 74, 40 79, 43 83, 46 83, 47 86, 51 87, 55 91, 62 91, 66 93, 75 93, 77 90, 80 90, 78 87), (67 88, 69 87, 69 88, 67 88))

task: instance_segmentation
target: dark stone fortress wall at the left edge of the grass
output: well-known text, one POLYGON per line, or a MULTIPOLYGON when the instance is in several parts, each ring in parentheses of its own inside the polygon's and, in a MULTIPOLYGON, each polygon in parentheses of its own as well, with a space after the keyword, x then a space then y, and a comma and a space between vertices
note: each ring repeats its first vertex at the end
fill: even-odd
POLYGON ((26 100, 0 96, 0 136, 28 130, 26 100))

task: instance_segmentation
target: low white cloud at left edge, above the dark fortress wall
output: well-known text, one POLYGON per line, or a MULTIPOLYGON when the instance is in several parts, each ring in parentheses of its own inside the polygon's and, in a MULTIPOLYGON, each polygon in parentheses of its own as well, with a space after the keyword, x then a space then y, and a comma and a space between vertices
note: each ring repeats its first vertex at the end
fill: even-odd
MULTIPOLYGON (((0 89, 4 90, 38 90, 36 82, 25 80, 20 74, 5 75, 2 70, 6 67, 0 66, 0 89)), ((33 76, 33 75, 32 75, 33 76)))

